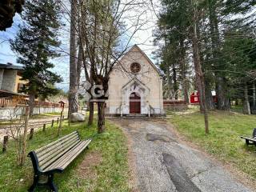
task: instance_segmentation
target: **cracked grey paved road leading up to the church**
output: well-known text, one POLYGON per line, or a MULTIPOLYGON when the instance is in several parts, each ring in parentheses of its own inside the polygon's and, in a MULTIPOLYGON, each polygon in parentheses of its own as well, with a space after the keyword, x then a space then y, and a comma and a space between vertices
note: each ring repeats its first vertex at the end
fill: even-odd
POLYGON ((130 140, 138 190, 246 192, 230 173, 198 150, 178 142, 162 120, 113 119, 130 140))

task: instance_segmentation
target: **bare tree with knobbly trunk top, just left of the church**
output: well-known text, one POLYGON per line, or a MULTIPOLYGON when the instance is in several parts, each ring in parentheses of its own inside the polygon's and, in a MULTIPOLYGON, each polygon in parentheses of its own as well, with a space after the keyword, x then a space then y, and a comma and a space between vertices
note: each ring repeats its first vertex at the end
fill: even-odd
POLYGON ((146 13, 146 6, 138 0, 80 1, 79 6, 78 37, 79 46, 84 50, 82 60, 86 80, 97 87, 94 89, 96 93, 91 93, 90 108, 93 102, 98 103, 98 132, 102 133, 110 73, 130 48, 131 38, 145 25, 142 15, 146 13), (130 16, 131 10, 137 15, 130 16), (126 27, 124 20, 129 17, 131 24, 126 27), (104 94, 99 96, 99 93, 104 94))

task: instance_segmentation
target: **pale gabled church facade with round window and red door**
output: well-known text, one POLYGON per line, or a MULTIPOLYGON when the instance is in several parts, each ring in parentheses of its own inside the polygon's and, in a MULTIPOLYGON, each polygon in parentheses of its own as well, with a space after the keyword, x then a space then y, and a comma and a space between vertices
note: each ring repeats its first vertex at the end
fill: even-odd
POLYGON ((162 77, 154 63, 137 45, 122 56, 110 74, 106 114, 165 114, 162 77))

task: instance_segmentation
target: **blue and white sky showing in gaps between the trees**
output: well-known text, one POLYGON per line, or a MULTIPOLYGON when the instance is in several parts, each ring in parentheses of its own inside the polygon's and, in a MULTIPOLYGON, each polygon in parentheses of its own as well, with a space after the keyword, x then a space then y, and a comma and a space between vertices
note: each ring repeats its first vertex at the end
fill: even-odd
MULTIPOLYGON (((150 2, 150 1, 149 1, 150 2)), ((154 0, 154 10, 157 10, 158 0, 154 0)), ((131 11, 130 14, 136 14, 135 12, 131 11)), ((65 18, 64 18, 65 20, 65 18)), ((138 44, 145 53, 152 58, 152 51, 154 51, 155 47, 153 46, 153 30, 156 27, 157 16, 153 9, 148 9, 146 14, 143 14, 142 20, 146 20, 146 24, 142 27, 142 30, 138 30, 138 32, 132 38, 130 44, 138 44)), ((65 21, 64 21, 65 22, 65 21)), ((126 25, 129 26, 129 17, 126 19, 126 25)), ((18 65, 17 63, 17 54, 15 54, 12 50, 10 50, 10 44, 8 39, 14 38, 15 34, 18 31, 18 25, 22 24, 22 18, 18 14, 14 17, 13 25, 8 28, 6 31, 0 31, 0 63, 7 63, 11 62, 14 65, 18 65)), ((60 30, 59 37, 62 40, 62 49, 66 52, 69 52, 69 34, 68 29, 69 25, 67 24, 65 28, 60 30)), ((131 32, 132 33, 132 32, 131 32)), ((58 84, 58 88, 63 90, 68 89, 69 84, 69 56, 68 54, 63 54, 62 57, 56 58, 53 60, 54 62, 54 71, 57 74, 62 75, 63 82, 58 84)), ((154 61, 153 61, 154 62, 154 61)))

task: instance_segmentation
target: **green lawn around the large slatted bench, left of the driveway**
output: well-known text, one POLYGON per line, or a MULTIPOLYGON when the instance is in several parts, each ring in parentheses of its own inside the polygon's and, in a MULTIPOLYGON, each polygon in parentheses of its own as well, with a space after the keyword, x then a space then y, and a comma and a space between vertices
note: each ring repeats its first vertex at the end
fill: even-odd
MULTIPOLYGON (((54 181, 59 191, 130 191, 128 186, 129 169, 127 162, 126 138, 117 126, 106 122, 106 132, 97 134, 96 124, 64 124, 62 135, 78 130, 82 138, 93 138, 90 149, 78 156, 62 174, 55 174, 54 181), (101 160, 89 166, 83 173, 82 160, 91 154, 98 154, 101 160), (89 169, 89 170, 88 170, 89 169), (89 175, 88 175, 89 173, 89 175)), ((58 128, 39 130, 33 140, 28 142, 28 150, 37 149, 57 139, 58 128)), ((94 161, 94 160, 93 160, 94 161)), ((26 191, 33 180, 32 164, 26 158, 22 168, 15 165, 14 143, 10 141, 6 154, 0 152, 0 189, 1 191, 26 191)), ((46 191, 46 190, 38 190, 46 191)))

